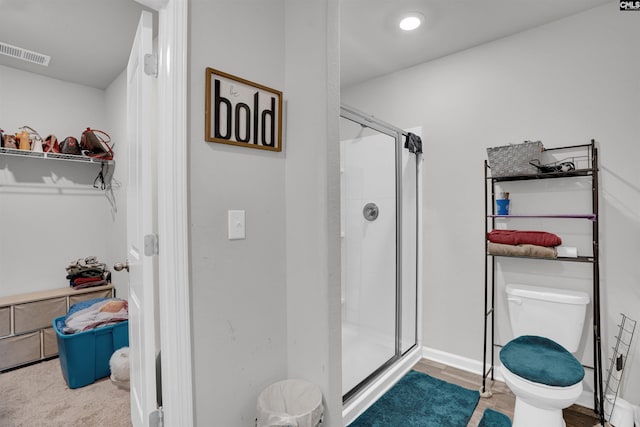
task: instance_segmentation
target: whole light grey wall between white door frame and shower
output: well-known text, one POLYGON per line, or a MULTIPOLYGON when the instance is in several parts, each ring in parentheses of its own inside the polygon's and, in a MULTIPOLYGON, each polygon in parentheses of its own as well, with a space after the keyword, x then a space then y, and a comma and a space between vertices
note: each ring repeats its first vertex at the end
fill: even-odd
MULTIPOLYGON (((327 15, 337 13, 337 2, 194 0, 190 6, 196 422, 253 426, 258 394, 297 377, 322 388, 327 425, 337 426, 339 259, 331 260, 327 243, 331 140, 338 167, 337 132, 327 130, 332 121, 337 129, 338 119, 337 62, 327 64, 328 46, 337 58, 337 27, 329 43, 327 15), (282 153, 205 142, 206 67, 283 90, 282 153), (331 119, 328 87, 334 88, 331 119), (245 240, 227 239, 230 209, 246 211, 245 240)), ((337 25, 337 15, 331 22, 337 25)))

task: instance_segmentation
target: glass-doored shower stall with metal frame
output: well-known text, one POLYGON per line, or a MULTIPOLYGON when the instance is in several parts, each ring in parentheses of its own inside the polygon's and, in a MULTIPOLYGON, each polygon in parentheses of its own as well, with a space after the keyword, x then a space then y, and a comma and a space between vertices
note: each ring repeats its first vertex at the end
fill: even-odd
POLYGON ((340 115, 347 407, 405 356, 419 353, 421 150, 405 148, 409 132, 419 136, 420 129, 405 131, 345 105, 340 115))

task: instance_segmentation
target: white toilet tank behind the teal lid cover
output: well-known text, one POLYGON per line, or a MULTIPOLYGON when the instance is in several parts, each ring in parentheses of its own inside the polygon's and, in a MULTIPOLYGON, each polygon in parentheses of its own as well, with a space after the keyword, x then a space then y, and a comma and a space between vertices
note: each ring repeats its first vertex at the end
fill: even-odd
POLYGON ((550 338, 569 352, 580 345, 589 295, 584 292, 529 285, 506 287, 514 337, 550 338))

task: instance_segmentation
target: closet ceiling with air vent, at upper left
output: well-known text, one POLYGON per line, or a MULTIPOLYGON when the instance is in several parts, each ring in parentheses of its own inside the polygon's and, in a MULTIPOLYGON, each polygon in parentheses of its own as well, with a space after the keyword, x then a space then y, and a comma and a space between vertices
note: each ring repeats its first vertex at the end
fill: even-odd
POLYGON ((0 42, 51 56, 0 65, 105 89, 127 66, 140 12, 133 0, 0 0, 0 42))

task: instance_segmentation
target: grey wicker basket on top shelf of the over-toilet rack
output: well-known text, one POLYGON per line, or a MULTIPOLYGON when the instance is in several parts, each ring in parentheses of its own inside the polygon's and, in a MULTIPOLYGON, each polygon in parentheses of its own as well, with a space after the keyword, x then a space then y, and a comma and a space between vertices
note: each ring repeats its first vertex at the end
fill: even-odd
POLYGON ((540 141, 487 148, 491 176, 535 175, 538 169, 529 162, 539 163, 542 150, 540 141))

